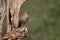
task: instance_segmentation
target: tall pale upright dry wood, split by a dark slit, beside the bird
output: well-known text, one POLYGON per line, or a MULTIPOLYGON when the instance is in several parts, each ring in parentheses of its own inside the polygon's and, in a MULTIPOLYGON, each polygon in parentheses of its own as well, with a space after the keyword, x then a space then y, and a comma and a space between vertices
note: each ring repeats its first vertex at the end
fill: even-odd
POLYGON ((22 4, 26 0, 7 0, 7 32, 11 31, 11 26, 9 23, 9 8, 10 8, 10 14, 11 14, 11 21, 13 22, 14 26, 18 26, 19 22, 19 11, 22 6, 22 4))

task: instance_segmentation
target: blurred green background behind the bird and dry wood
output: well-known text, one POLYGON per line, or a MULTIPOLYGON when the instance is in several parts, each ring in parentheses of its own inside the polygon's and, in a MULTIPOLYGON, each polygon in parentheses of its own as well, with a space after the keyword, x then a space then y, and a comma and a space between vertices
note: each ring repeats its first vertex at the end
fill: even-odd
MULTIPOLYGON (((27 9, 29 35, 24 40, 60 40, 60 0, 27 0, 20 13, 23 14, 27 9)), ((3 35, 5 33, 6 18, 3 35)))

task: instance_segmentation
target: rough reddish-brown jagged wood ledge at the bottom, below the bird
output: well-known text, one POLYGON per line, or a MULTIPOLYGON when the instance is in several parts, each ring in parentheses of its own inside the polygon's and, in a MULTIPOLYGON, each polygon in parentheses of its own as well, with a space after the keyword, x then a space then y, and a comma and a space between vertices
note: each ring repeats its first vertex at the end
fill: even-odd
POLYGON ((22 28, 17 28, 15 31, 11 31, 9 33, 7 33, 3 39, 22 39, 25 38, 27 36, 27 27, 22 27, 22 28))

